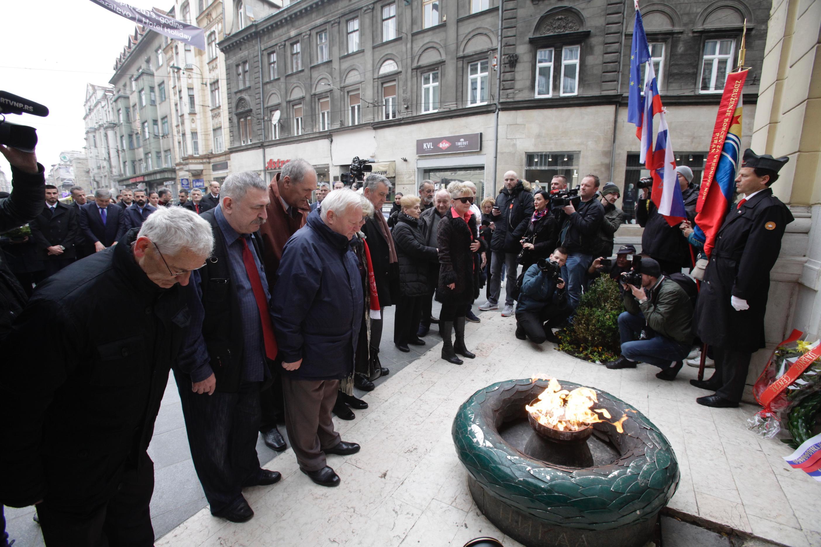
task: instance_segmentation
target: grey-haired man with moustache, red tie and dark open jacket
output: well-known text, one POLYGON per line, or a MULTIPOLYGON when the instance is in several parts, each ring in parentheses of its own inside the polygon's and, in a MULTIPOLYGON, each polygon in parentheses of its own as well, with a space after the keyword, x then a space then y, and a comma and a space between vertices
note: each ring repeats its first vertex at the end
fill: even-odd
POLYGON ((242 489, 281 478, 259 467, 256 452, 259 392, 277 358, 259 241, 268 186, 253 171, 235 173, 222 185, 220 200, 200 215, 213 230, 214 248, 192 277, 201 302, 190 328, 198 351, 175 376, 191 459, 211 514, 245 522, 254 511, 242 489))

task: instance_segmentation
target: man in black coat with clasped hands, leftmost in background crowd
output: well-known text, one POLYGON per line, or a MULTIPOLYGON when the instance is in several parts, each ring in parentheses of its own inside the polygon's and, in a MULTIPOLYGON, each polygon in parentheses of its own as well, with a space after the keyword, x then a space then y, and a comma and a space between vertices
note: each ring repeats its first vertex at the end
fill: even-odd
POLYGON ((46 206, 29 224, 44 266, 40 280, 74 262, 77 256, 75 245, 80 243, 80 221, 76 210, 57 201, 57 186, 46 185, 45 189, 46 206))

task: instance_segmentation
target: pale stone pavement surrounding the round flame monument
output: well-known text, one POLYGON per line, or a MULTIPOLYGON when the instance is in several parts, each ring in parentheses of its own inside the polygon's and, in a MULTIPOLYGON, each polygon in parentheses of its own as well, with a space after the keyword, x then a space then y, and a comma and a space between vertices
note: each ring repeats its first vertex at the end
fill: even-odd
POLYGON ((518 546, 475 508, 450 430, 470 394, 534 374, 606 390, 658 425, 681 465, 673 513, 782 545, 821 545, 821 484, 783 462, 791 452, 786 445, 747 431, 756 408, 699 406, 695 398, 705 392, 687 382, 695 368, 685 367, 673 382, 656 379, 658 368, 647 365, 609 371, 552 344, 516 340, 512 317, 481 317, 468 325, 466 340, 476 359, 452 365, 434 348, 367 394, 369 408, 354 421, 334 418, 345 440, 362 444, 359 454, 328 457, 342 477, 338 488, 314 485, 288 449, 264 466, 282 472, 279 484, 245 491, 256 513, 250 522, 226 522, 204 508, 158 547, 461 547, 478 536, 518 546))

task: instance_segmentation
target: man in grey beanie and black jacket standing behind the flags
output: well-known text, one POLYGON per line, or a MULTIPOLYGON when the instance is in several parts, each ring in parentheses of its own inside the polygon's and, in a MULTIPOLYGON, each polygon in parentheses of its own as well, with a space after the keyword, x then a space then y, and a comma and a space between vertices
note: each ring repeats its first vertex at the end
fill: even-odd
MULTIPOLYGON (((691 182, 693 171, 690 167, 677 166, 676 172, 687 220, 692 222, 695 220, 695 203, 699 200, 699 187, 691 182)), ((646 179, 640 180, 640 183, 652 184, 646 179)), ((681 230, 678 226, 667 224, 667 219, 658 214, 655 203, 649 197, 650 189, 642 189, 639 203, 635 206, 635 220, 644 227, 644 234, 641 235, 641 252, 655 258, 662 271, 667 274, 692 267, 690 248, 687 240, 681 237, 681 230)))

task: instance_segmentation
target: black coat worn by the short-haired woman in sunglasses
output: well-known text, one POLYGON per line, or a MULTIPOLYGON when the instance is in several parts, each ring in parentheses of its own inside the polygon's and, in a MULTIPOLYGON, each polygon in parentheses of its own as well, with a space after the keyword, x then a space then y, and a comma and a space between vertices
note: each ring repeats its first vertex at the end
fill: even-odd
POLYGON ((480 256, 486 250, 484 240, 477 239, 481 246, 475 253, 470 250, 476 231, 476 217, 470 222, 453 217, 453 209, 446 212, 439 221, 437 243, 439 245, 439 282, 436 299, 443 304, 467 305, 479 298, 481 285, 480 256), (447 285, 456 283, 456 288, 447 285))

